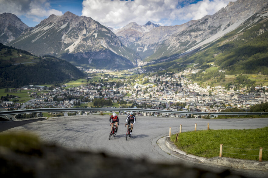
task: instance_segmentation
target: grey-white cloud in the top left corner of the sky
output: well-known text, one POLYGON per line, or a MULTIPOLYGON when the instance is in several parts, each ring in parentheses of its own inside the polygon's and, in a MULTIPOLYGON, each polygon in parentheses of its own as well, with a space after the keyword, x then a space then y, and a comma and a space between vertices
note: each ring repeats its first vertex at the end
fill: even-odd
POLYGON ((51 9, 48 0, 0 0, 0 4, 0 13, 24 15, 35 22, 40 22, 51 14, 63 15, 61 11, 51 9))

